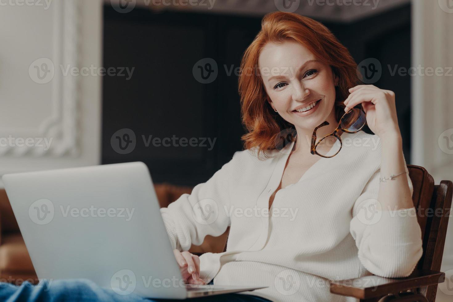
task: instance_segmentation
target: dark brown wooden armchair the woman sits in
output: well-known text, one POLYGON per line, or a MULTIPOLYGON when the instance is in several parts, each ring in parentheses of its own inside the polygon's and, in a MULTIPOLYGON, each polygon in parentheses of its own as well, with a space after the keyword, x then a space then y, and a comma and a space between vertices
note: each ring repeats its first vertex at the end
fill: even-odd
POLYGON ((452 203, 453 183, 434 180, 425 168, 407 165, 414 192, 412 199, 422 230, 423 255, 414 272, 405 278, 365 276, 331 281, 330 292, 352 296, 361 302, 434 302, 438 283, 445 280, 439 272, 452 203))

